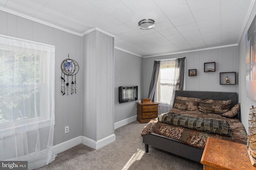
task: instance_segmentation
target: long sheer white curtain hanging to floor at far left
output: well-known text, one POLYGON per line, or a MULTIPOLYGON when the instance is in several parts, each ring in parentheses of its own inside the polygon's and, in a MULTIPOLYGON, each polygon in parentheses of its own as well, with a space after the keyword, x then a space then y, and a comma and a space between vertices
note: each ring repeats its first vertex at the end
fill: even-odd
POLYGON ((0 160, 52 162, 55 47, 0 35, 0 160))

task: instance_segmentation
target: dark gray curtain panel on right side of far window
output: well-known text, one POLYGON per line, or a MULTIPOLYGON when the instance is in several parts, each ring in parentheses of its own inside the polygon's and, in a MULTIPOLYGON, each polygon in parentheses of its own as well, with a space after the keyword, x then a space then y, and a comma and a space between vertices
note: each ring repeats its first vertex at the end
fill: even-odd
POLYGON ((180 72, 178 74, 178 78, 177 78, 177 84, 175 87, 175 90, 183 90, 183 85, 184 85, 184 72, 185 72, 185 59, 186 57, 183 58, 179 58, 177 59, 177 67, 180 68, 180 72))

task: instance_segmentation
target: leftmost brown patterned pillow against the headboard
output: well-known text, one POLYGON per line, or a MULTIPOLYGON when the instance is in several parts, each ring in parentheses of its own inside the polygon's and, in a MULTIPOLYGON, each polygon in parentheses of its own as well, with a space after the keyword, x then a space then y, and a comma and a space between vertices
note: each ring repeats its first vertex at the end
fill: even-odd
POLYGON ((183 110, 198 110, 198 104, 202 99, 176 96, 174 107, 183 110))

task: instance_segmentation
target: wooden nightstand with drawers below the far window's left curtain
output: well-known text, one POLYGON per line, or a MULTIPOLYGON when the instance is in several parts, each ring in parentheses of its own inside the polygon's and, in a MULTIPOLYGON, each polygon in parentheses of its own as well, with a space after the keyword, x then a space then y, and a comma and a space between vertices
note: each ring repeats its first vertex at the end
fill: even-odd
POLYGON ((158 115, 158 103, 144 102, 137 103, 137 121, 140 123, 149 122, 158 115))

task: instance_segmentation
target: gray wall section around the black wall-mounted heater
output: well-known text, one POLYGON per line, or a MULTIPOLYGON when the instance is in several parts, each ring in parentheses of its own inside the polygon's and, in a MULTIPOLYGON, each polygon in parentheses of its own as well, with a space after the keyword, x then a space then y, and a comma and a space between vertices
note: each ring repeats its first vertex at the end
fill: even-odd
MULTIPOLYGON (((137 115, 136 102, 118 102, 119 86, 138 86, 138 100, 143 94, 143 58, 115 49, 115 123, 137 115)), ((138 101, 137 101, 138 102, 138 101)))

